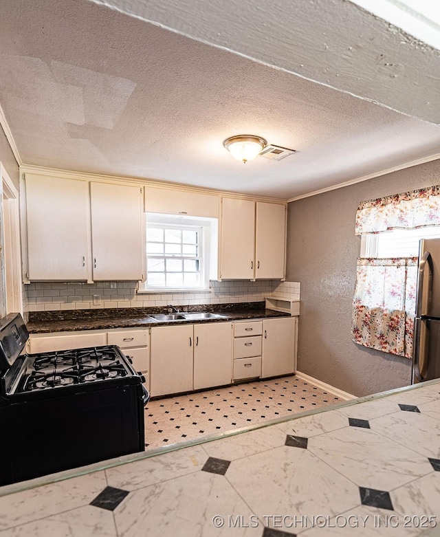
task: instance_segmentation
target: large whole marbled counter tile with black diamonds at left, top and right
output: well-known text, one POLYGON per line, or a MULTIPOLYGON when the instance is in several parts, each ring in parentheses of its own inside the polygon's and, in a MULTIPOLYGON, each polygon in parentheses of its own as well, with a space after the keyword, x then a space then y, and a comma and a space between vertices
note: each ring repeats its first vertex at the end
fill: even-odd
POLYGON ((336 515, 360 504, 356 485, 303 448, 283 446, 232 461, 225 476, 262 520, 336 515))

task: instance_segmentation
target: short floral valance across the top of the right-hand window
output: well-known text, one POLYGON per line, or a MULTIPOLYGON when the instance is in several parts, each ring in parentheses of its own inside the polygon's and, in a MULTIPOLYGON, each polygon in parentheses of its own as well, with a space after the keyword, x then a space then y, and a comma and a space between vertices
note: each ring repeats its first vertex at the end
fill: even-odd
POLYGON ((362 201, 356 212, 357 235, 425 226, 440 226, 440 185, 362 201))

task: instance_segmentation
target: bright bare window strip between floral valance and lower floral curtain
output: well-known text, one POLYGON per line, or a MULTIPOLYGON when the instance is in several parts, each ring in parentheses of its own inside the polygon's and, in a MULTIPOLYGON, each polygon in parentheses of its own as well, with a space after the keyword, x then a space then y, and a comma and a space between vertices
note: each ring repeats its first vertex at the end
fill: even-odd
POLYGON ((391 230, 361 236, 361 257, 412 257, 419 255, 420 239, 440 237, 440 226, 391 230))

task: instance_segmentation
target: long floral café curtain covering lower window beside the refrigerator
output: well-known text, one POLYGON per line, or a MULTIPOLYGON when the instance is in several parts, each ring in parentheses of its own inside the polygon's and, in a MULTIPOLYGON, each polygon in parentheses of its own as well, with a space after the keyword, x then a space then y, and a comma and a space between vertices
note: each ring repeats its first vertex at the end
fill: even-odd
POLYGON ((412 358, 417 257, 358 259, 351 338, 412 358))

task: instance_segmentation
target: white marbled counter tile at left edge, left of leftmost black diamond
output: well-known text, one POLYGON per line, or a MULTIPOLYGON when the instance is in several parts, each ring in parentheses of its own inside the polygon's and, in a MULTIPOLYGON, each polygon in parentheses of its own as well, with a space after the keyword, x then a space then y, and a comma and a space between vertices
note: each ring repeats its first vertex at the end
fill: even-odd
POLYGON ((0 529, 87 505, 106 486, 104 472, 94 472, 1 496, 0 529))

